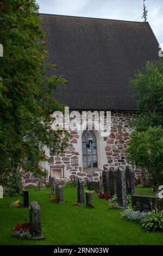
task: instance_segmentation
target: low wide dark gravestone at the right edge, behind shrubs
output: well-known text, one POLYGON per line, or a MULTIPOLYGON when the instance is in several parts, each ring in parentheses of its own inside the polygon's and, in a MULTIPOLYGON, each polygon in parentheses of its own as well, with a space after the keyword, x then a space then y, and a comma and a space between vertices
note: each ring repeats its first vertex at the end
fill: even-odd
POLYGON ((153 196, 131 195, 132 207, 139 204, 140 211, 151 211, 152 209, 163 210, 163 199, 153 196))

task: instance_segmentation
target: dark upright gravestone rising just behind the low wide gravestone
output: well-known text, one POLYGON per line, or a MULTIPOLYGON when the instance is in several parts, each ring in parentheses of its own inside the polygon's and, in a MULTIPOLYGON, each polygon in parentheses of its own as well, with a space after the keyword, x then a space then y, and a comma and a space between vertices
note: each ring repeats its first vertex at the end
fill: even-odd
POLYGON ((136 194, 135 173, 134 169, 130 166, 126 167, 126 189, 127 194, 136 194))

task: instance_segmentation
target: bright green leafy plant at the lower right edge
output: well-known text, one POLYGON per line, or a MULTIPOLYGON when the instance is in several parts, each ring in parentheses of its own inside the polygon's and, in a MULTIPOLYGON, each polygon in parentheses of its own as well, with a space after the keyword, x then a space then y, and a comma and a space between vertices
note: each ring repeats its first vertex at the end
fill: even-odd
POLYGON ((146 231, 163 231, 163 211, 152 210, 142 221, 142 228, 146 231))

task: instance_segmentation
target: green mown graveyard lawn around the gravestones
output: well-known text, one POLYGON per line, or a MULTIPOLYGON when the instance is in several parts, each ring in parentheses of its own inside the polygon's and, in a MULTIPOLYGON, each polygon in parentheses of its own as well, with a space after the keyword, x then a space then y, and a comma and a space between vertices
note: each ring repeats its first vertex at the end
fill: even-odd
MULTIPOLYGON (((140 224, 121 217, 122 210, 108 209, 108 201, 93 194, 93 206, 72 206, 77 190, 64 187, 65 204, 49 200, 51 188, 35 191, 29 188, 29 200, 41 206, 42 233, 45 240, 17 240, 10 229, 28 218, 28 208, 10 208, 21 197, 0 199, 1 245, 163 245, 161 232, 147 233, 140 224)), ((149 188, 137 188, 137 194, 154 195, 149 188)))

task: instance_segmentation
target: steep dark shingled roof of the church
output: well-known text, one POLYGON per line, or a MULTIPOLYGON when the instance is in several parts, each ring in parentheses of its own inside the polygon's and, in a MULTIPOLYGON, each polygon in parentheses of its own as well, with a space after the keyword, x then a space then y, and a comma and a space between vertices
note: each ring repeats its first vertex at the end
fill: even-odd
MULTIPOLYGON (((158 59, 148 23, 40 14, 49 62, 68 80, 54 97, 71 109, 134 110, 129 78, 158 59)), ((51 72, 49 72, 49 75, 51 72)))

